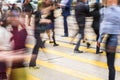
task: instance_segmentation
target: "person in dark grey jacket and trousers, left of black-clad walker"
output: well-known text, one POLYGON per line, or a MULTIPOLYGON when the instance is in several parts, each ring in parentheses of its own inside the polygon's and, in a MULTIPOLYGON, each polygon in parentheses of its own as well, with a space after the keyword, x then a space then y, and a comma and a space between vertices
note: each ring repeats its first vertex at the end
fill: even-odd
POLYGON ((82 53, 83 51, 79 50, 80 42, 84 39, 84 29, 85 29, 85 18, 89 15, 89 7, 85 4, 86 0, 79 0, 78 4, 75 6, 75 18, 79 28, 79 39, 74 48, 75 53, 82 53))

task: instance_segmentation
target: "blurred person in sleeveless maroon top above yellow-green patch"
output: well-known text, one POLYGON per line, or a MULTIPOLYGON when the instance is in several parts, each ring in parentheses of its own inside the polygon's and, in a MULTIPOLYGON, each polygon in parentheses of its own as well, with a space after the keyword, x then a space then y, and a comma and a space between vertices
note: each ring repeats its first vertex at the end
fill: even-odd
MULTIPOLYGON (((17 12, 16 10, 16 13, 17 12)), ((12 11, 7 17, 7 23, 11 25, 13 48, 11 55, 14 57, 11 60, 11 72, 9 80, 27 80, 27 74, 25 70, 25 53, 26 53, 26 38, 27 31, 25 24, 22 22, 24 20, 19 14, 14 14, 12 11)))

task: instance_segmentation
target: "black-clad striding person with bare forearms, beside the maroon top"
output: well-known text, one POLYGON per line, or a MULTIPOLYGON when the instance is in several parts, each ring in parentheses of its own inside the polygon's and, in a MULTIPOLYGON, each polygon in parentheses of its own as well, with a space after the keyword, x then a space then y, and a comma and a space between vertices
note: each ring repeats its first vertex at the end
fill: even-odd
POLYGON ((35 46, 32 51, 32 56, 30 59, 29 67, 38 69, 39 67, 36 66, 36 59, 38 56, 39 48, 44 48, 45 41, 42 40, 41 34, 46 31, 46 25, 51 23, 49 19, 41 19, 41 15, 46 13, 50 8, 41 8, 41 5, 38 6, 38 10, 34 13, 35 14, 35 29, 34 29, 34 37, 36 39, 35 46))

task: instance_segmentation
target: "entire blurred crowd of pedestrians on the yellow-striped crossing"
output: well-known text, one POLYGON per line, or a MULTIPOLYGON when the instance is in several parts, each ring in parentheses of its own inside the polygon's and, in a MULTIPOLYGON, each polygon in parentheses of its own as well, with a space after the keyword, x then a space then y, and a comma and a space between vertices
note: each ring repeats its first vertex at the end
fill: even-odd
MULTIPOLYGON (((105 52, 107 56, 107 65, 109 69, 109 80, 115 80, 114 60, 116 46, 118 42, 118 34, 120 34, 120 1, 107 0, 108 4, 104 6, 101 3, 94 3, 93 9, 90 10, 87 0, 77 0, 74 8, 72 0, 42 0, 34 10, 31 0, 23 0, 21 7, 17 4, 0 3, 0 80, 27 80, 25 71, 26 65, 26 27, 34 27, 35 46, 30 57, 29 67, 39 68, 36 66, 36 60, 39 48, 45 48, 46 40, 42 34, 46 33, 49 43, 53 46, 59 46, 55 38, 55 19, 58 17, 55 10, 61 10, 63 16, 62 37, 69 37, 68 16, 71 15, 71 9, 74 9, 74 17, 76 19, 78 30, 72 37, 70 43, 79 35, 76 42, 74 53, 83 53, 79 50, 80 44, 86 43, 86 47, 91 46, 90 42, 85 39, 86 17, 93 17, 92 29, 96 34, 96 54, 100 51, 100 43, 105 35, 107 35, 105 52), (3 6, 6 6, 4 9, 3 6), (106 12, 107 11, 107 12, 106 12), (34 17, 32 22, 31 17, 34 17), (27 18, 27 20, 26 20, 27 18), (8 71, 8 69, 10 69, 8 71), (21 70, 20 72, 18 70, 21 70)), ((74 26, 73 26, 74 27, 74 26)))

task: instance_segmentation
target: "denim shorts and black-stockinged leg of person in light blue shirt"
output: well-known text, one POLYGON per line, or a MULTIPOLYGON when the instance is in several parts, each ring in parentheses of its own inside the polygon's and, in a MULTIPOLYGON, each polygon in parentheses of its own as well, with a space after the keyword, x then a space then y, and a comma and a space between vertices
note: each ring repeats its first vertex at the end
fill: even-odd
POLYGON ((117 35, 109 35, 106 41, 106 56, 109 70, 109 80, 115 80, 115 53, 117 47, 117 35))

